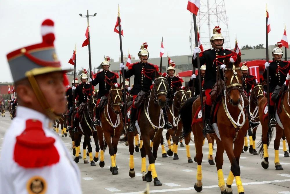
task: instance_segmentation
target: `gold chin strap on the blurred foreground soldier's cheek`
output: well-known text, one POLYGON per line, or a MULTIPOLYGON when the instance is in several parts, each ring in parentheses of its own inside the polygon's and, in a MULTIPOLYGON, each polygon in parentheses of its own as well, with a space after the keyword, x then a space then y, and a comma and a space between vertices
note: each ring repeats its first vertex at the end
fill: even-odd
POLYGON ((51 120, 60 118, 60 115, 55 114, 54 110, 49 106, 48 102, 46 101, 43 93, 41 92, 37 84, 35 77, 32 74, 28 73, 27 78, 38 99, 38 102, 40 103, 41 107, 46 111, 46 115, 48 116, 48 118, 50 118, 51 120))

